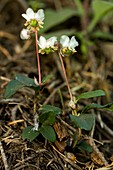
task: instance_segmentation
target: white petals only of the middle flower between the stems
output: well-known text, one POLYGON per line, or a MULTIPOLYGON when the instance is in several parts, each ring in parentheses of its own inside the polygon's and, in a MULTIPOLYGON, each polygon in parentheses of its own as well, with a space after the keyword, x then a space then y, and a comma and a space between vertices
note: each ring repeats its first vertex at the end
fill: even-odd
POLYGON ((41 49, 45 48, 52 48, 55 45, 55 42, 57 42, 57 37, 51 37, 48 40, 45 39, 45 37, 40 36, 38 45, 41 49))

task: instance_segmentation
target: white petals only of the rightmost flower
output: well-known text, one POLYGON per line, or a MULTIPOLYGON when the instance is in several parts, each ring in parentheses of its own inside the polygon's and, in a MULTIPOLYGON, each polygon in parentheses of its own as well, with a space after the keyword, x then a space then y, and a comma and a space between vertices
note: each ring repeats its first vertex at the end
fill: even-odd
POLYGON ((60 44, 62 45, 62 48, 68 48, 72 52, 76 52, 75 47, 78 46, 78 42, 76 41, 75 36, 69 39, 67 35, 61 36, 60 44))

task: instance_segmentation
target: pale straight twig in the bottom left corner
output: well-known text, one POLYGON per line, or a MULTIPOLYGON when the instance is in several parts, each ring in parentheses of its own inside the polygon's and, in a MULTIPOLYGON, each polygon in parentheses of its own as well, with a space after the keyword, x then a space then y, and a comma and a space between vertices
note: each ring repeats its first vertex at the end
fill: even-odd
POLYGON ((3 160, 3 163, 4 163, 5 170, 9 170, 9 166, 8 166, 8 163, 7 163, 7 158, 6 158, 6 155, 5 155, 5 152, 4 152, 4 148, 2 146, 2 142, 1 141, 0 141, 0 151, 1 151, 2 160, 3 160))

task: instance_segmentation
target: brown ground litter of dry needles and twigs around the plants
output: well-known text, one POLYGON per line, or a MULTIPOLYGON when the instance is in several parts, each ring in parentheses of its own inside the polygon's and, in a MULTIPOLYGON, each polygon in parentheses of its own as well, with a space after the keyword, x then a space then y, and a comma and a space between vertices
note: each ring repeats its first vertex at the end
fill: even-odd
MULTIPOLYGON (((4 2, 0 7, 0 169, 113 169, 113 112, 94 110, 96 120, 92 132, 79 132, 94 139, 89 139, 89 143, 95 152, 87 153, 78 149, 73 151, 68 134, 75 133, 76 129, 74 131, 68 121, 68 114, 71 112, 67 104, 69 95, 58 56, 55 54, 41 56, 42 75, 51 73, 52 77, 39 96, 37 110, 40 104, 62 108, 62 115, 57 119, 61 140, 51 143, 41 135, 32 142, 22 140, 23 129, 33 124, 34 92, 23 88, 10 99, 4 99, 3 93, 7 83, 16 74, 37 77, 35 45, 32 40, 22 41, 19 37, 24 24, 21 14, 26 7, 16 1, 6 2, 7 5, 4 2), (104 168, 101 169, 102 167, 104 168)), ((81 100, 79 109, 91 102, 103 105, 112 102, 113 42, 98 40, 87 59, 81 58, 79 48, 77 51, 75 56, 64 59, 73 95, 97 89, 106 93, 105 97, 98 99, 81 100)))

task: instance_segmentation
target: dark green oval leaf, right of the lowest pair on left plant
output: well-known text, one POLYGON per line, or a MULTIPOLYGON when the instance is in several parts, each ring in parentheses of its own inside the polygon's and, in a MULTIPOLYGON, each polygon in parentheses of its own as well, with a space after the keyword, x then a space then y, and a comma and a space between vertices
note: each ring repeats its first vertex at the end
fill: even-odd
POLYGON ((42 125, 39 128, 40 133, 42 134, 42 136, 44 138, 46 138, 47 140, 49 140, 50 142, 55 142, 56 140, 56 134, 54 129, 51 126, 47 126, 47 125, 42 125))

